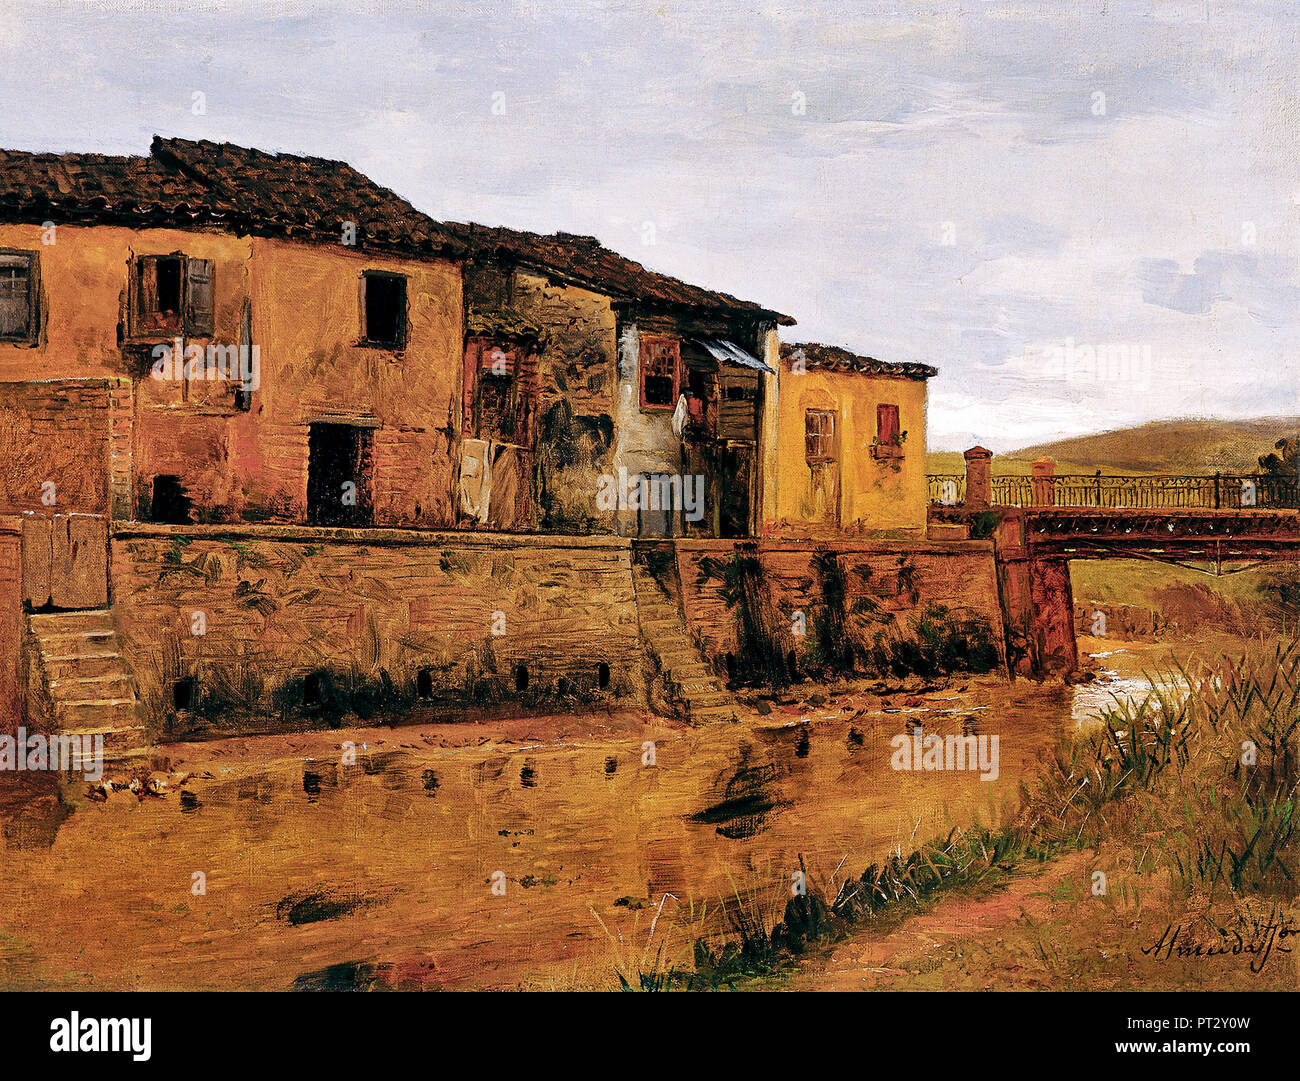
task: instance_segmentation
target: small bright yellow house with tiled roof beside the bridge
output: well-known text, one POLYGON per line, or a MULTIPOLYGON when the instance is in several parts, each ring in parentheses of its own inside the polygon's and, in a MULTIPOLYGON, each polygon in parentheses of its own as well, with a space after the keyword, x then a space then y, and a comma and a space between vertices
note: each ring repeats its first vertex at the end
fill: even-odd
POLYGON ((767 417, 766 535, 924 537, 928 364, 781 346, 767 417))

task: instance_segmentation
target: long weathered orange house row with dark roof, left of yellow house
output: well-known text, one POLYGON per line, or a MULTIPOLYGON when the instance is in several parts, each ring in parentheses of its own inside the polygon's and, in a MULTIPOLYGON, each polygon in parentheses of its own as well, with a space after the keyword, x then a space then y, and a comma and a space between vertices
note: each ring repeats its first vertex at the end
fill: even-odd
MULTIPOLYGON (((14 431, 42 422, 16 383, 104 379, 82 392, 117 433, 109 470, 81 444, 10 470, 10 508, 52 505, 51 481, 53 505, 144 521, 757 531, 792 320, 594 238, 436 222, 343 162, 155 139, 0 153, 0 272, 14 431), (228 378, 240 359, 252 378, 228 378)), ((60 409, 58 439, 83 413, 60 409)))

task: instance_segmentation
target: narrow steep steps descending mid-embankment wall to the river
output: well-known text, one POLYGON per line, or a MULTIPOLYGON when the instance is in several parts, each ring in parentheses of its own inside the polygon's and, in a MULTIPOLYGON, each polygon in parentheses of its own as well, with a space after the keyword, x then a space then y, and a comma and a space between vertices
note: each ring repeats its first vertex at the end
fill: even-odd
POLYGON ((677 602, 641 564, 633 563, 632 582, 641 637, 659 665, 672 704, 685 720, 696 724, 736 720, 736 699, 692 643, 677 602))

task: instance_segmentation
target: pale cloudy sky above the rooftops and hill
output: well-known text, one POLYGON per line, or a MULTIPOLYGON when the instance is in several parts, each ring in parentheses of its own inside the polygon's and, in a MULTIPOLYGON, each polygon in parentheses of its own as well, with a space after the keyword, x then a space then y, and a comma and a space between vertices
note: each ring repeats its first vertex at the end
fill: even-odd
POLYGON ((4 0, 0 146, 342 159, 919 360, 930 446, 1300 413, 1290 3, 4 0))

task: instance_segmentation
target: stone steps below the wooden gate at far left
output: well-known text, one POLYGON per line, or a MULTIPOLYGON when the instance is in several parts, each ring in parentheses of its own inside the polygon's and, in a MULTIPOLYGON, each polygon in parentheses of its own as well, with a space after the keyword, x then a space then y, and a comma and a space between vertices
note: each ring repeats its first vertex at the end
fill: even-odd
POLYGON ((107 608, 30 617, 52 731, 104 737, 104 759, 135 757, 148 737, 107 608))

